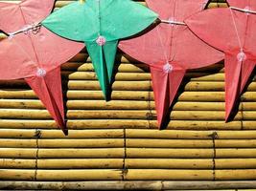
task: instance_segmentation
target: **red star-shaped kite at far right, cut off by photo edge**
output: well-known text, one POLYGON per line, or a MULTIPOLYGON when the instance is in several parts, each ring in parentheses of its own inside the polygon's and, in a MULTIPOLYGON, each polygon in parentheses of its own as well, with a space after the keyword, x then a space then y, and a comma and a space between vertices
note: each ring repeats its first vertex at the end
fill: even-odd
POLYGON ((256 1, 228 3, 229 8, 202 11, 186 20, 199 38, 225 53, 226 121, 256 63, 256 1))

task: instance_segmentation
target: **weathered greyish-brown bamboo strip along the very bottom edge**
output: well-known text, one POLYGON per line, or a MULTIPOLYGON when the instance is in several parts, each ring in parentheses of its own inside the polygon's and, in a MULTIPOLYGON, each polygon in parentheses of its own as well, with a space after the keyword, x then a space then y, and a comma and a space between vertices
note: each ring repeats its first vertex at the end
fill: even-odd
MULTIPOLYGON (((32 190, 244 190, 255 188, 253 180, 233 181, 2 181, 0 189, 32 190), (241 189, 240 189, 241 188, 241 189)), ((249 190, 250 191, 250 190, 249 190)))

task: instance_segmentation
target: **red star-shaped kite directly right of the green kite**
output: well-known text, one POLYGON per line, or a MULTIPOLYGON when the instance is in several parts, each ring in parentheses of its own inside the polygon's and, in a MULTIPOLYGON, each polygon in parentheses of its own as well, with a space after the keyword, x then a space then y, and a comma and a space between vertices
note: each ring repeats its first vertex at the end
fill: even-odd
POLYGON ((176 92, 189 69, 214 64, 223 54, 201 41, 184 19, 206 6, 205 0, 146 0, 161 23, 151 32, 121 41, 119 48, 151 68, 159 128, 165 122, 176 92))

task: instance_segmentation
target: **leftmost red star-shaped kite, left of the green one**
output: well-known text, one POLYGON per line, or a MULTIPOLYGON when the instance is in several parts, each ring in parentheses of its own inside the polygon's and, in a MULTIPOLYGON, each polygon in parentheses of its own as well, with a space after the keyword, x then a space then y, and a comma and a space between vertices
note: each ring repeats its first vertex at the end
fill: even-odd
POLYGON ((24 78, 58 127, 67 133, 61 90, 60 64, 84 47, 48 31, 40 22, 50 14, 54 0, 0 3, 0 79, 24 78))

